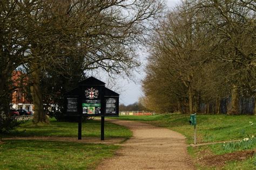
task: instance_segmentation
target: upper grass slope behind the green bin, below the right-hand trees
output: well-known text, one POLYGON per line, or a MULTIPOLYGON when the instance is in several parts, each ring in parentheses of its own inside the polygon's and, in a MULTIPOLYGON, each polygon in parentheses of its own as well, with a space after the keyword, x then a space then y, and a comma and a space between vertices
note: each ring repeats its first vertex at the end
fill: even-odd
MULTIPOLYGON (((146 121, 153 125, 169 128, 184 134, 187 142, 192 144, 194 142, 194 126, 188 123, 189 118, 189 115, 162 114, 120 116, 118 119, 146 121)), ((256 116, 197 115, 198 143, 244 139, 253 134, 256 134, 256 116)))

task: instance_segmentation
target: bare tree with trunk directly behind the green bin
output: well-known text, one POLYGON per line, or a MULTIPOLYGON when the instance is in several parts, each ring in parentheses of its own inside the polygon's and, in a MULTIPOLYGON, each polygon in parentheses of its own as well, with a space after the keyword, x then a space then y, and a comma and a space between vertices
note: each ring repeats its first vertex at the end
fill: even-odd
POLYGON ((193 20, 200 16, 187 13, 188 7, 184 4, 177 11, 170 12, 156 28, 156 36, 150 43, 154 62, 150 60, 149 67, 154 73, 161 72, 157 79, 166 84, 162 91, 169 94, 168 98, 178 101, 179 110, 187 100, 189 112, 193 113, 198 111, 197 82, 201 75, 200 62, 204 59, 198 49, 205 46, 207 35, 204 30, 194 29, 193 20), (157 67, 154 66, 156 63, 157 67), (157 70, 159 68, 161 71, 157 70))

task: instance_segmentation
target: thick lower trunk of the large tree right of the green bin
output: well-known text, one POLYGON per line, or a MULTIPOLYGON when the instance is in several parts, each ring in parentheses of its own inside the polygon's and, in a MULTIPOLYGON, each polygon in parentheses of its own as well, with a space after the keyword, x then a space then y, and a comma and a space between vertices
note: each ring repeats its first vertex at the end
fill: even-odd
POLYGON ((227 112, 227 115, 238 115, 238 87, 233 84, 231 91, 231 109, 227 112))

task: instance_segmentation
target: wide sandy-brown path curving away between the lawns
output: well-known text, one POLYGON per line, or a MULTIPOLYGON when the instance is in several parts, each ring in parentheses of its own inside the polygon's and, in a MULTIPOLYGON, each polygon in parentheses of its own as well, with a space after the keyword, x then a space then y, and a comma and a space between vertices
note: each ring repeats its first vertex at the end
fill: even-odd
POLYGON ((104 160, 97 169, 194 169, 180 133, 140 122, 106 121, 128 127, 133 137, 122 144, 116 157, 104 160))

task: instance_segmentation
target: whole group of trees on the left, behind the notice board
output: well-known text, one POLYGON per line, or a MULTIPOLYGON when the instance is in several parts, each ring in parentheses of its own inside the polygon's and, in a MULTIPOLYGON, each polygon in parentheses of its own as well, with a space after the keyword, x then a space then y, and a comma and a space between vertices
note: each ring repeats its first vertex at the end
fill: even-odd
POLYGON ((35 106, 34 123, 48 122, 44 104, 62 111, 62 95, 89 70, 129 76, 140 65, 136 48, 162 9, 163 2, 155 0, 1 1, 1 122, 12 91, 20 88, 11 80, 15 70, 28 77, 23 88, 35 106))

